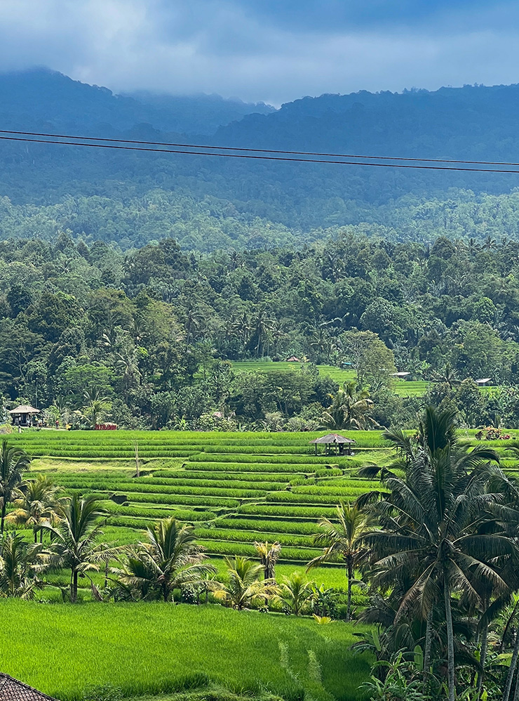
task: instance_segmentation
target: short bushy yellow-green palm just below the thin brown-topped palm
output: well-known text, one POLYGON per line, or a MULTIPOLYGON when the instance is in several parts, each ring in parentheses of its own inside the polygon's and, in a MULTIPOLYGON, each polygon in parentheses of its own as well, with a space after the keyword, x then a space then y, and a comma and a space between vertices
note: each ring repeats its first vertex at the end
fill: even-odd
POLYGON ((232 608, 241 611, 245 606, 257 601, 273 598, 278 595, 279 588, 271 579, 260 580, 264 572, 263 565, 249 558, 236 556, 224 558, 229 582, 221 582, 215 589, 215 597, 229 603, 232 608))

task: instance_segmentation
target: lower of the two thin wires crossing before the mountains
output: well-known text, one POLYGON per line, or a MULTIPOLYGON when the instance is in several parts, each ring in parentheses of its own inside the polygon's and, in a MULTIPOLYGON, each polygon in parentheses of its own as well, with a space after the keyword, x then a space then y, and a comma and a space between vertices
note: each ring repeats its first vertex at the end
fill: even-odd
MULTIPOLYGON (((13 133, 13 132, 11 132, 13 133)), ((74 137, 72 137, 74 138, 74 137)), ((0 136, 0 140, 8 141, 23 141, 27 143, 53 143, 65 146, 86 146, 88 148, 111 148, 125 151, 143 151, 151 153, 177 153, 191 156, 217 156, 220 158, 245 158, 245 159, 255 159, 264 161, 285 161, 285 162, 296 162, 296 163, 328 163, 328 164, 338 164, 342 166, 372 166, 373 168, 412 168, 420 170, 430 170, 430 171, 466 171, 469 173, 517 173, 519 170, 510 169, 497 169, 497 168, 464 168, 460 166, 423 166, 423 165, 411 165, 411 164, 400 164, 400 163, 368 163, 364 161, 344 161, 344 160, 330 160, 330 159, 318 159, 318 158, 292 158, 288 156, 257 156, 250 155, 248 153, 217 153, 209 151, 186 151, 178 149, 166 149, 166 148, 144 148, 144 146, 120 146, 113 143, 84 143, 81 141, 56 141, 50 139, 40 139, 40 138, 23 138, 21 136, 0 136)), ((100 139, 96 139, 100 140, 100 139)), ((151 142, 144 142, 151 143, 151 142)), ((202 148, 202 147, 201 147, 202 148)), ((213 147, 214 148, 214 147, 213 147)), ((217 147, 215 147, 217 148, 217 147)), ((225 147, 228 148, 228 147, 225 147)), ((269 153, 269 151, 267 151, 269 153)), ((286 153, 286 152, 282 152, 286 153)), ((374 158, 374 157, 373 157, 374 158)), ((456 162, 456 161, 455 161, 456 162)), ((518 164, 519 165, 519 164, 518 164)))

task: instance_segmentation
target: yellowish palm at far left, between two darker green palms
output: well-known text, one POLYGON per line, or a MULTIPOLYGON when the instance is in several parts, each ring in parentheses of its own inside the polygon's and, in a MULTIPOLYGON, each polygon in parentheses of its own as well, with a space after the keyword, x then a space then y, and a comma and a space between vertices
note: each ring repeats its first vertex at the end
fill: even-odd
MULTIPOLYGON (((62 487, 58 487, 47 476, 39 475, 34 480, 25 480, 14 493, 16 509, 6 516, 7 523, 32 526, 34 542, 42 523, 56 523, 64 502, 60 499, 62 487)), ((40 530, 40 542, 43 531, 40 530)))

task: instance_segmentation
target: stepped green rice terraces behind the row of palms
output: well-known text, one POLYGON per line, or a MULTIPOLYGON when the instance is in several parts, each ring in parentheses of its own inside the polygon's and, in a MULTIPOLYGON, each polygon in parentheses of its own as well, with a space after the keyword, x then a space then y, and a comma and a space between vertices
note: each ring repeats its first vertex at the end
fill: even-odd
MULTIPOLYGON (((43 430, 11 440, 34 457, 33 473, 53 474, 68 492, 97 494, 110 513, 109 528, 125 541, 131 531, 137 540, 154 520, 175 516, 194 523, 211 556, 254 556, 255 541, 278 540, 281 561, 302 564, 319 552, 312 542, 316 521, 334 516, 341 499, 377 487, 358 477, 360 466, 392 459, 377 431, 350 433, 357 441, 351 457, 326 456, 321 446, 316 456, 309 441, 319 435, 43 430)), ((504 442, 494 445, 505 468, 515 470, 504 442)))

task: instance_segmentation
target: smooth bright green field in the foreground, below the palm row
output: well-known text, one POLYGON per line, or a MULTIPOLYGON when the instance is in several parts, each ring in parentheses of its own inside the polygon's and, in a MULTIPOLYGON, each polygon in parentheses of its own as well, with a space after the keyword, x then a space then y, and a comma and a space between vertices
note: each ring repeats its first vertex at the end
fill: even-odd
POLYGON ((208 681, 236 692, 269 689, 290 700, 350 701, 370 658, 349 650, 344 622, 218 605, 42 605, 1 600, 0 669, 63 701, 95 686, 126 696, 170 693, 208 681))

